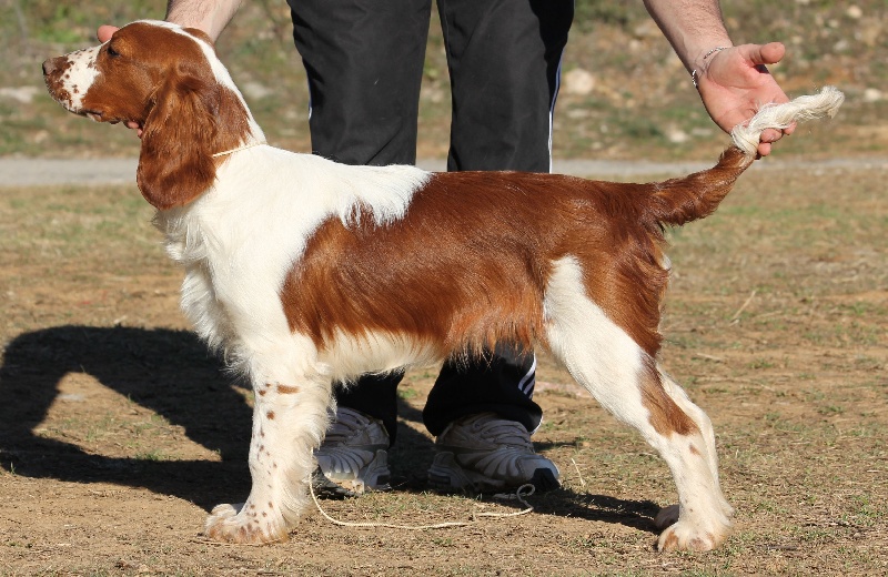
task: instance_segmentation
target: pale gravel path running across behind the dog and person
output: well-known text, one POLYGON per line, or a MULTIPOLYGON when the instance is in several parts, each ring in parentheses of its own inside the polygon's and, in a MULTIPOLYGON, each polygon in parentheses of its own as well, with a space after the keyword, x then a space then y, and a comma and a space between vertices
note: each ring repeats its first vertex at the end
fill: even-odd
MULTIPOLYGON (((426 170, 444 170, 444 161, 420 161, 426 170)), ((710 166, 705 162, 630 162, 606 160, 556 160, 554 172, 599 179, 682 175, 710 166)), ((135 182, 135 159, 22 159, 0 158, 0 186, 57 184, 127 184, 135 182)), ((858 158, 827 161, 770 160, 751 170, 888 170, 888 159, 858 158)))

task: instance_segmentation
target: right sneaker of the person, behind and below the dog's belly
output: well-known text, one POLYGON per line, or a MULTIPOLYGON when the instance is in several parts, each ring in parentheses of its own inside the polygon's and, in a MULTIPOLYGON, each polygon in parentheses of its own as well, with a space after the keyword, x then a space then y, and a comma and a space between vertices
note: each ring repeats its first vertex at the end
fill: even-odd
POLYGON ((454 421, 435 439, 435 448, 428 483, 438 490, 485 493, 529 483, 544 492, 561 486, 558 467, 534 453, 524 425, 494 413, 454 421))

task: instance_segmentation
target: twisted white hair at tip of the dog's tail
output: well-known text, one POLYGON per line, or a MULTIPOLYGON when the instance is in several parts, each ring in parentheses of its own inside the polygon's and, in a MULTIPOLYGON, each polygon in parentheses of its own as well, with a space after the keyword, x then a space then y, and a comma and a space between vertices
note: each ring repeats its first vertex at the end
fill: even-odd
POLYGON ((845 94, 836 87, 824 87, 819 94, 808 94, 785 104, 765 104, 747 124, 738 124, 730 131, 734 144, 747 155, 754 156, 758 141, 766 129, 783 130, 793 122, 804 122, 827 115, 833 118, 845 101, 845 94))

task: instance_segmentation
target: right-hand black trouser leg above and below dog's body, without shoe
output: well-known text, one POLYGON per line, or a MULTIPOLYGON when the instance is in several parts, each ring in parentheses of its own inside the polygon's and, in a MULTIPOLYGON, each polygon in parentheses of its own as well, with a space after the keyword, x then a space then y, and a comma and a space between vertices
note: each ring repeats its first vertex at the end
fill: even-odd
MULTIPOLYGON (((548 172, 573 0, 441 0, 438 11, 453 92, 447 169, 548 172)), ((497 399, 494 412, 535 429, 542 412, 531 401, 534 365, 532 353, 508 347, 491 362, 448 363, 424 412, 430 432, 497 399)))

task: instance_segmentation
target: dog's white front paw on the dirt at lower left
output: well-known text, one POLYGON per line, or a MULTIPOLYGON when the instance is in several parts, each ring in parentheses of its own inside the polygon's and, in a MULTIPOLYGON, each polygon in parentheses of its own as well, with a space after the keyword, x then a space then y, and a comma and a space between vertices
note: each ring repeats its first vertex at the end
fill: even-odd
POLYGON ((213 540, 261 545, 286 540, 286 529, 276 518, 269 519, 268 512, 253 505, 216 505, 206 517, 203 534, 213 540))

